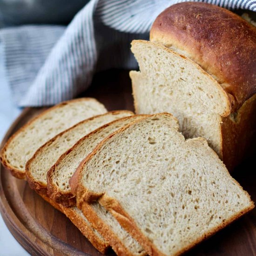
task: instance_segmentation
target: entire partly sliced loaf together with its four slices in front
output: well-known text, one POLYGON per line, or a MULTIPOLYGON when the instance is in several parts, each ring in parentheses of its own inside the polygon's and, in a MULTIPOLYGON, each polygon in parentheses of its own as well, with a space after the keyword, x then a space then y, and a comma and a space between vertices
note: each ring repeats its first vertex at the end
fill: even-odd
POLYGON ((17 131, 0 160, 101 253, 180 255, 254 208, 227 168, 256 142, 256 27, 180 3, 132 52, 139 115, 62 102, 17 131))

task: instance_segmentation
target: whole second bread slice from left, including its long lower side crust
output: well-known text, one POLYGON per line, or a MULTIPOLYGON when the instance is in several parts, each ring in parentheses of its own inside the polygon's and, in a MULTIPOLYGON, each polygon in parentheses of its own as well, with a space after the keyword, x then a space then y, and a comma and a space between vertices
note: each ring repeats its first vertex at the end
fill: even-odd
POLYGON ((72 147, 82 136, 109 121, 129 115, 133 115, 133 113, 126 110, 112 111, 81 121, 47 141, 35 152, 33 157, 26 164, 27 181, 30 187, 43 198, 47 199, 55 208, 58 206, 59 210, 61 210, 61 212, 80 229, 81 233, 88 238, 93 246, 102 253, 108 249, 109 244, 103 236, 93 228, 91 223, 88 222, 81 210, 76 207, 67 209, 48 198, 46 175, 48 169, 58 160, 59 156, 72 147))

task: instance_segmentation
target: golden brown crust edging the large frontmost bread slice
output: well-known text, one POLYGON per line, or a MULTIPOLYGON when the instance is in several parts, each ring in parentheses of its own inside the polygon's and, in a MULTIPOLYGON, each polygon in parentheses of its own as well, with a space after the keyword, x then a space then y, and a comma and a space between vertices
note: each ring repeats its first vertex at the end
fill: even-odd
MULTIPOLYGON (((161 115, 171 115, 171 114, 161 113, 161 115)), ((82 209, 87 203, 90 203, 90 202, 93 202, 93 201, 97 200, 105 209, 107 209, 116 218, 116 220, 120 223, 120 225, 124 229, 126 229, 128 231, 128 233, 131 236, 133 236, 141 244, 141 246, 147 251, 147 253, 150 256, 163 256, 163 254, 158 249, 155 248, 154 244, 146 236, 144 236, 142 234, 142 232, 137 227, 137 225, 135 224, 132 217, 129 216, 128 213, 125 212, 124 209, 122 209, 121 205, 119 204, 119 202, 117 200, 115 200, 114 198, 109 197, 106 193, 103 193, 103 192, 102 193, 95 193, 94 191, 90 191, 87 188, 84 188, 83 185, 80 182, 81 178, 82 178, 82 169, 83 169, 84 165, 86 165, 86 163, 95 154, 97 154, 97 152, 101 149, 101 147, 104 146, 104 144, 108 140, 110 140, 113 136, 123 132, 124 130, 126 130, 127 128, 129 128, 133 124, 135 124, 136 122, 138 122, 138 121, 134 121, 133 123, 128 124, 127 126, 119 129, 118 131, 116 131, 112 135, 109 135, 106 139, 101 141, 101 143, 99 143, 98 146, 96 148, 94 148, 94 151, 90 155, 88 155, 83 162, 81 162, 81 165, 76 170, 76 172, 77 172, 76 178, 74 178, 74 180, 71 181, 70 185, 73 186, 73 189, 76 191, 77 205, 78 205, 79 208, 82 209)), ((205 139, 202 139, 202 138, 195 138, 193 140, 198 140, 198 139, 202 140, 203 142, 205 141, 205 139)), ((204 145, 206 145, 206 144, 204 144, 204 145)), ((216 155, 216 152, 214 152, 213 150, 212 150, 212 153, 216 155)), ((217 157, 217 155, 216 155, 216 157, 217 157)), ((227 174, 229 174, 228 170, 227 169, 225 169, 225 170, 226 170, 227 174)), ((243 189, 236 180, 233 179, 233 182, 235 182, 241 189, 243 189)), ((250 198, 249 194, 246 191, 245 191, 245 193, 250 198)), ((187 246, 186 248, 179 251, 176 255, 180 255, 180 254, 188 251, 189 249, 194 247, 196 244, 198 244, 198 243, 202 242, 203 240, 207 239, 209 236, 212 236, 218 230, 226 227, 231 222, 235 221, 240 216, 249 212, 253 208, 254 208, 254 202, 252 202, 250 200, 250 205, 247 208, 245 208, 243 211, 241 211, 240 213, 235 214, 234 216, 230 217, 228 220, 223 221, 222 225, 218 226, 217 228, 213 228, 212 230, 209 230, 209 232, 207 234, 204 234, 203 236, 201 236, 200 238, 198 238, 197 240, 192 242, 189 246, 187 246)))

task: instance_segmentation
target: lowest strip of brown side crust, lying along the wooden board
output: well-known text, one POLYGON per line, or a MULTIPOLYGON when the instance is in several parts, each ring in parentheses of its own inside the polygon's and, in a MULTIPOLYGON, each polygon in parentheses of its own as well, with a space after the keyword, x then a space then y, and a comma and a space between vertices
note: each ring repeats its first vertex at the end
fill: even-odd
POLYGON ((48 203, 50 203, 55 209, 59 210, 60 212, 62 212, 63 214, 65 214, 67 216, 67 218, 69 218, 71 220, 71 222, 74 223, 74 225, 76 227, 79 228, 79 230, 81 231, 81 233, 86 236, 88 238, 88 240, 90 241, 90 243, 92 243, 92 245, 98 250, 100 251, 102 254, 106 254, 108 249, 109 249, 109 245, 106 242, 106 240, 97 232, 97 230, 95 230, 91 223, 88 222, 88 220, 86 219, 86 217, 82 214, 81 210, 76 208, 76 207, 72 207, 72 208, 65 208, 62 205, 54 202, 53 200, 51 200, 48 196, 46 195, 40 195, 45 201, 47 201, 48 203))

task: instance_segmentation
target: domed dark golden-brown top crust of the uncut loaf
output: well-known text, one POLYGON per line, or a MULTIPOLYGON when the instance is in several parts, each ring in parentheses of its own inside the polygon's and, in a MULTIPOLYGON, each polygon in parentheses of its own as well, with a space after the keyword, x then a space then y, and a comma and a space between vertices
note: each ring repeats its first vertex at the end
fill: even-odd
POLYGON ((256 27, 227 9, 200 2, 168 7, 155 20, 150 40, 186 51, 236 100, 256 93, 256 27))

